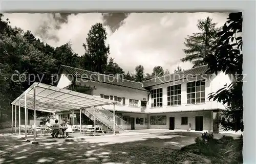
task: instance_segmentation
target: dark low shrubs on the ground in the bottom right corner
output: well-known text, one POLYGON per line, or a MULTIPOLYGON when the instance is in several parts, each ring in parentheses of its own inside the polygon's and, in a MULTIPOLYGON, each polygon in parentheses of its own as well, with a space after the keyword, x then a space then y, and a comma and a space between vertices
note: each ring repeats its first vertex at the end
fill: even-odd
POLYGON ((243 136, 234 139, 232 136, 223 135, 215 139, 211 133, 202 134, 195 138, 195 144, 187 146, 183 152, 194 153, 212 163, 243 163, 243 136))

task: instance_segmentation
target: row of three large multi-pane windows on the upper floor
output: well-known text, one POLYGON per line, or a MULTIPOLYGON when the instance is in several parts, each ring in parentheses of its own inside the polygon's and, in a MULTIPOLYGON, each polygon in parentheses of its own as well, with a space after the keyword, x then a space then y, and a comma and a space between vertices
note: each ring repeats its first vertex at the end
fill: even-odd
MULTIPOLYGON (((187 104, 205 102, 205 82, 187 83, 187 104)), ((181 84, 167 87, 167 106, 181 105, 181 84)), ((151 90, 151 107, 163 106, 163 88, 151 90)))

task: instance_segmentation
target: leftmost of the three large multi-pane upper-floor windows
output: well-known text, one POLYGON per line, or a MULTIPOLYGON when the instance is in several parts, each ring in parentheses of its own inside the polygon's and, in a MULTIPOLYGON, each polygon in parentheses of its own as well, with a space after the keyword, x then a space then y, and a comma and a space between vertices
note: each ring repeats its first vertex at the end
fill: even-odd
POLYGON ((163 88, 151 90, 151 107, 163 106, 163 88))

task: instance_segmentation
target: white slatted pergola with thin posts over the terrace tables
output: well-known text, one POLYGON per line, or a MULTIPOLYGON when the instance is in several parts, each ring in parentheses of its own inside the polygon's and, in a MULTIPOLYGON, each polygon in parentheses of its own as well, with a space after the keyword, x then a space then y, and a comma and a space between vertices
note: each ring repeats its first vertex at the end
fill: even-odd
MULTIPOLYGON (((18 119, 20 135, 20 107, 25 108, 25 137, 27 137, 27 109, 34 110, 34 127, 36 126, 36 110, 45 112, 80 110, 80 131, 81 131, 81 110, 94 108, 94 126, 96 125, 95 107, 113 105, 113 134, 115 135, 115 104, 116 101, 86 95, 76 91, 58 88, 52 85, 35 82, 26 91, 16 98, 12 104, 12 132, 13 132, 13 105, 15 105, 15 133, 16 133, 16 111, 18 102, 18 119), (28 98, 28 99, 27 99, 28 98)), ((34 128, 34 140, 36 140, 36 128, 34 128)), ((95 135, 94 130, 94 135, 95 135)))

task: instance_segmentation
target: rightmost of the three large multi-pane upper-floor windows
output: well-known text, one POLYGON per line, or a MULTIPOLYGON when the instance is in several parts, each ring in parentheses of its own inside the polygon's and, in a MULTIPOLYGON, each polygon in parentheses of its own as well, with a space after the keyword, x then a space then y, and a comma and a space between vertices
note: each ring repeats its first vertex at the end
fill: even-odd
POLYGON ((202 80, 187 83, 187 104, 205 103, 205 82, 202 80))

